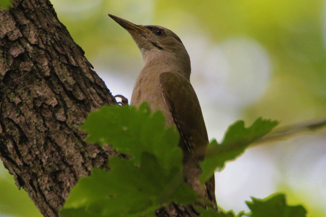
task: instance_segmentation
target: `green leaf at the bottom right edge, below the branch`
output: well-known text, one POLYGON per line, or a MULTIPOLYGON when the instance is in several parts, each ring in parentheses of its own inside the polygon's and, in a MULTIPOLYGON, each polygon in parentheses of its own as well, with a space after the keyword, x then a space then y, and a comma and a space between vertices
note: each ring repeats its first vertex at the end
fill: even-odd
POLYGON ((252 202, 245 202, 251 210, 251 217, 305 217, 307 213, 301 205, 287 205, 284 194, 276 193, 264 199, 251 199, 252 202))

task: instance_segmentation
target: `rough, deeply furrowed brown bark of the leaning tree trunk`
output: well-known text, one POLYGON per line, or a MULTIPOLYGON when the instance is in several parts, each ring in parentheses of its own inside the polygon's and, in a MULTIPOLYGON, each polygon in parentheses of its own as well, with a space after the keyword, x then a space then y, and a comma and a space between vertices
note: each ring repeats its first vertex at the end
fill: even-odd
MULTIPOLYGON (((116 103, 47 0, 0 10, 0 157, 44 216, 58 216, 70 189, 118 155, 84 142, 87 114, 116 103)), ((109 184, 109 183, 108 183, 109 184)), ((158 216, 195 216, 170 205, 158 216)))

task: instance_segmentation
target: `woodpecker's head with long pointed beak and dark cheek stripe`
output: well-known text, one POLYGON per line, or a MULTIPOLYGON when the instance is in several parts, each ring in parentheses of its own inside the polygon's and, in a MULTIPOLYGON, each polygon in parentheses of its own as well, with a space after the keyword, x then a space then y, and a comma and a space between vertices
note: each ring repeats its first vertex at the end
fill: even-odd
POLYGON ((152 60, 182 64, 190 75, 189 55, 178 35, 162 26, 136 25, 114 15, 109 16, 129 32, 141 50, 145 64, 152 60))

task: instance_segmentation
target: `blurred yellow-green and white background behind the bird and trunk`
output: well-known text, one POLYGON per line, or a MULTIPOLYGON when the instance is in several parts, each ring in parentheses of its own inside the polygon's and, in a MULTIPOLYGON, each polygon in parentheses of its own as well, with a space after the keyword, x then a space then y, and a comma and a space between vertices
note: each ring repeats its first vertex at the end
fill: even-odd
MULTIPOLYGON (((321 0, 52 0, 61 22, 113 95, 130 99, 142 68, 130 35, 107 14, 161 25, 183 41, 192 61, 210 138, 237 119, 281 126, 326 117, 326 2, 321 0)), ((281 191, 308 216, 326 216, 325 129, 250 148, 217 172, 217 202, 248 210, 250 196, 281 191)), ((37 216, 26 193, 0 169, 0 215, 37 216), (10 199, 14 198, 14 199, 10 199)))

